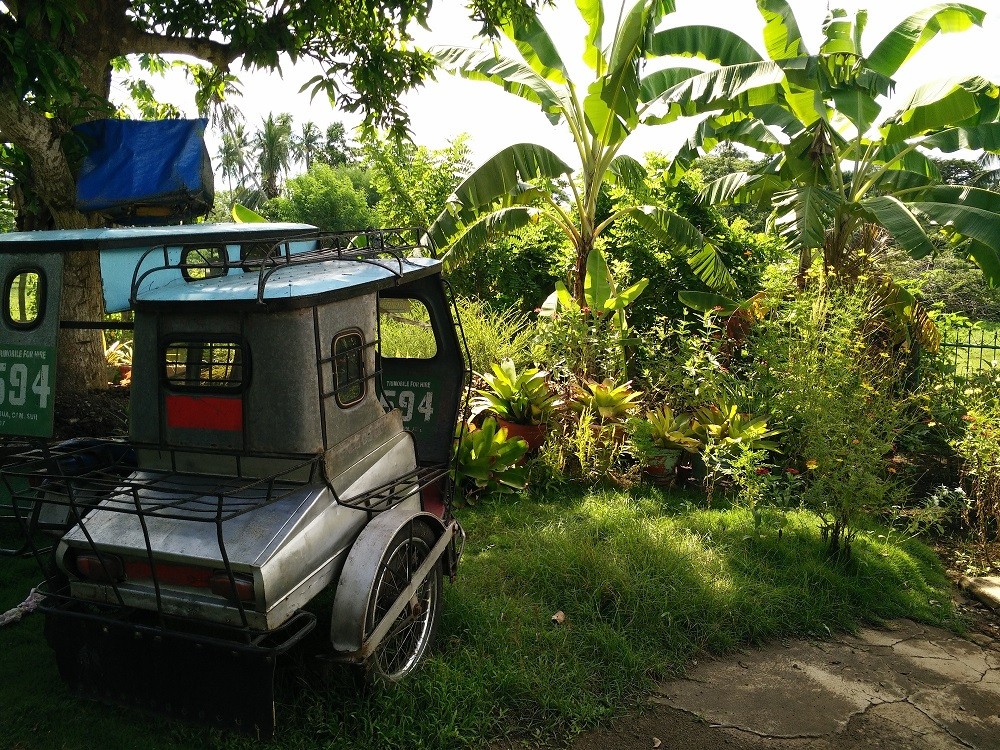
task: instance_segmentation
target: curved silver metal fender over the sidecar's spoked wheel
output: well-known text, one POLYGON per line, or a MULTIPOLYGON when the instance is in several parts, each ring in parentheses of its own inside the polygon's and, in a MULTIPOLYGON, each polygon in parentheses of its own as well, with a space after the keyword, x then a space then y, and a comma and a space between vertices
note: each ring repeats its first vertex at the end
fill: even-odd
POLYGON ((330 642, 334 650, 347 653, 360 651, 364 641, 368 598, 375 585, 379 563, 396 534, 411 521, 427 524, 438 538, 445 530, 437 516, 397 505, 375 516, 351 547, 333 599, 330 642))

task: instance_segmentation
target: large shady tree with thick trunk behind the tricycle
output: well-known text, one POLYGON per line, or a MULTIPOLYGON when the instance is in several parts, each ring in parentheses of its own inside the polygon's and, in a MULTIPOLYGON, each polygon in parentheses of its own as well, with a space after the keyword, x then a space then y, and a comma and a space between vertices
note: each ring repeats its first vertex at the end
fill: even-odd
MULTIPOLYGON (((207 111, 232 84, 231 68, 275 69, 282 55, 310 59, 322 73, 308 86, 369 125, 405 132, 399 94, 429 74, 430 58, 410 44, 433 0, 9 0, 0 4, 0 142, 13 174, 20 228, 79 228, 98 221, 76 209, 74 171, 82 147, 73 125, 115 113, 112 72, 163 65, 186 55, 196 101, 207 111), (27 219, 26 219, 27 217, 27 219)), ((469 12, 491 30, 520 0, 472 0, 469 12)), ((140 91, 140 95, 143 92, 140 91)), ((147 104, 149 102, 147 101, 147 104)), ((155 108, 154 108, 155 109, 155 108)), ((144 111, 149 111, 147 107, 144 111)), ((162 114, 162 113, 160 113, 162 114)), ((92 254, 65 260, 63 318, 99 320, 100 269, 92 254)), ((104 384, 99 335, 63 337, 61 391, 104 384), (82 339, 86 339, 83 341, 82 339)))

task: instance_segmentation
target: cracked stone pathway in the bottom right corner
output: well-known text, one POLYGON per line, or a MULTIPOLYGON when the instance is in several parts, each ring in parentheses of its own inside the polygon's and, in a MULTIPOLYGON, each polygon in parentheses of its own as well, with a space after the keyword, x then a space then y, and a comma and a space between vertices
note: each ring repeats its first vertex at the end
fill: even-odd
POLYGON ((993 750, 1000 649, 987 636, 978 641, 898 620, 704 661, 661 685, 652 701, 751 748, 993 750))

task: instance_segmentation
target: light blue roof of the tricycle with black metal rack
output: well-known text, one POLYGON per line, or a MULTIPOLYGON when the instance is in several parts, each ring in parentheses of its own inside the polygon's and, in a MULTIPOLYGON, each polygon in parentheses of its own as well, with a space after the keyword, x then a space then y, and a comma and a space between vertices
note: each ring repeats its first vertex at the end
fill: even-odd
POLYGON ((307 305, 439 270, 407 257, 415 230, 325 234, 309 224, 190 224, 0 234, 0 253, 101 254, 105 309, 227 303, 307 305))

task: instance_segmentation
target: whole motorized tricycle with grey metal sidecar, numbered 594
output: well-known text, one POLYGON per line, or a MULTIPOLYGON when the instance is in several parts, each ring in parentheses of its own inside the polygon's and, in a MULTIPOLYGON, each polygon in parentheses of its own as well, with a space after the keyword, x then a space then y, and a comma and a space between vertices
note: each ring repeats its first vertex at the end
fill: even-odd
POLYGON ((29 443, 7 510, 75 692, 268 737, 275 661, 324 591, 337 659, 396 681, 426 654, 467 384, 441 263, 414 251, 292 224, 0 235, 0 433, 29 443), (127 441, 46 440, 79 250, 134 313, 127 441))

